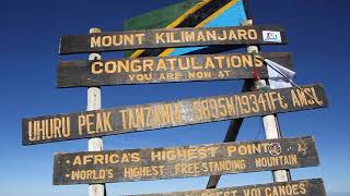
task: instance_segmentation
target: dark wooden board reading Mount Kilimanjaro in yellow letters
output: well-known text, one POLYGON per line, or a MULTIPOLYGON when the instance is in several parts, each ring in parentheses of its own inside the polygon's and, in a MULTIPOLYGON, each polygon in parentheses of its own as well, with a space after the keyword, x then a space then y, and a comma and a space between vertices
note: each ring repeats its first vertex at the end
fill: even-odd
POLYGON ((279 26, 173 28, 69 35, 60 39, 60 54, 147 48, 221 45, 287 44, 279 26))

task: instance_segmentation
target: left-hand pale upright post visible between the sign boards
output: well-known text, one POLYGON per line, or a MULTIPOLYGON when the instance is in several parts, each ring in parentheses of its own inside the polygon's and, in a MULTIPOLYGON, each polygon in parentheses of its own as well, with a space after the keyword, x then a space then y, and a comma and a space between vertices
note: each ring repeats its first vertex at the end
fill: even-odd
MULTIPOLYGON (((90 34, 101 33, 100 28, 90 28, 90 34)), ((100 53, 90 53, 89 60, 101 60, 100 53)), ((88 107, 86 110, 101 109, 101 88, 90 87, 88 88, 88 107)), ((89 139, 89 151, 103 150, 102 137, 95 137, 89 139)), ((105 196, 105 184, 90 184, 89 196, 105 196)))

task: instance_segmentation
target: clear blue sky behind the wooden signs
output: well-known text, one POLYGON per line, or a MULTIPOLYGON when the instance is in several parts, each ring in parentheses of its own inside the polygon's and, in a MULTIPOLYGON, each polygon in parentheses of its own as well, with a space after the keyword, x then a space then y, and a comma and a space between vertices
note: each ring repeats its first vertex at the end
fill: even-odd
MULTIPOLYGON (((21 120, 85 110, 86 89, 57 89, 60 60, 86 59, 86 54, 59 57, 59 36, 85 34, 90 27, 122 29, 122 20, 180 0, 61 0, 1 2, 1 196, 83 196, 88 185, 52 186, 52 158, 58 151, 88 149, 88 140, 23 147, 21 120)), ((320 167, 292 170, 292 177, 323 177, 330 196, 350 195, 349 109, 350 73, 348 0, 253 0, 256 24, 280 24, 290 44, 262 47, 264 51, 294 52, 299 84, 323 83, 330 107, 280 115, 283 136, 315 135, 320 167), (338 194, 337 194, 338 193, 338 194), (342 193, 342 194, 340 194, 342 193)), ((228 19, 229 20, 229 19, 228 19)), ((121 52, 108 57, 121 57, 121 52)), ((241 81, 103 88, 103 108, 232 94, 241 81)), ((105 149, 178 146, 221 142, 229 122, 109 136, 105 149)), ((238 140, 262 139, 260 118, 247 119, 238 140)), ((108 184, 108 195, 198 189, 208 177, 108 184)), ((225 175, 219 186, 271 182, 270 172, 225 175)))

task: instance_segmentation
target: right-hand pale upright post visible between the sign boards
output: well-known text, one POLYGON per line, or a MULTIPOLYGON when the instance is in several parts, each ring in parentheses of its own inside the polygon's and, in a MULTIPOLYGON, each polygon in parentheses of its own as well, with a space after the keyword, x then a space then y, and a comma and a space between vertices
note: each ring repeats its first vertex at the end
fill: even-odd
MULTIPOLYGON (((247 20, 242 22, 242 26, 252 26, 253 25, 253 20, 247 20)), ((247 48, 248 53, 257 53, 259 52, 259 48, 257 46, 249 46, 247 48)), ((267 81, 260 79, 255 84, 256 88, 262 88, 266 87, 267 81)), ((265 137, 267 139, 273 139, 273 138, 280 138, 281 133, 278 124, 277 117, 271 114, 271 115, 265 115, 262 117, 262 125, 265 130, 265 137)), ((289 170, 277 170, 272 171, 273 175, 273 181, 275 182, 287 182, 290 181, 290 174, 289 170)))

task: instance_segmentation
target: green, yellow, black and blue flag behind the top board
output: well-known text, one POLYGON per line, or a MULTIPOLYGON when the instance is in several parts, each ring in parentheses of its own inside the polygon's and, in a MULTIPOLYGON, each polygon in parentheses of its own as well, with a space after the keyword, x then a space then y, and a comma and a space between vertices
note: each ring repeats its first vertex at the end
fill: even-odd
MULTIPOLYGON (((125 30, 240 26, 247 19, 244 0, 186 0, 124 21, 125 30)), ((166 57, 194 53, 218 53, 233 46, 147 49, 126 52, 126 57, 166 57)))

